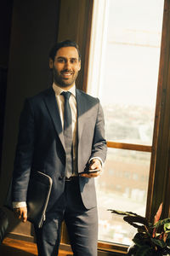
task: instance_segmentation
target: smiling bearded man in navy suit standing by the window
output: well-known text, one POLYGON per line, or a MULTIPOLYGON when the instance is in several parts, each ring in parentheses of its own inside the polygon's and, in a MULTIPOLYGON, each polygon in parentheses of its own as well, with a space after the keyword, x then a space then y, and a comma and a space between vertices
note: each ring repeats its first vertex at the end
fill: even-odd
POLYGON ((48 174, 53 186, 46 219, 42 228, 35 226, 38 255, 58 255, 59 232, 65 220, 74 255, 96 256, 94 177, 100 175, 106 156, 103 111, 98 98, 76 89, 81 55, 75 42, 55 44, 49 54, 49 67, 53 86, 26 99, 20 116, 13 175, 14 212, 26 222, 30 175, 37 171, 48 174), (66 112, 69 115, 65 118, 66 112), (66 137, 65 123, 70 118, 66 137))

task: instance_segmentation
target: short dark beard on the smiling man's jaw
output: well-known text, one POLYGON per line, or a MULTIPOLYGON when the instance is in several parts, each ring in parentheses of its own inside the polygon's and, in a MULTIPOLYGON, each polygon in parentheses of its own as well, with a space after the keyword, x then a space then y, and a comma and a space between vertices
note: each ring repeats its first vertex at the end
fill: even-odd
MULTIPOLYGON (((68 71, 68 70, 65 70, 68 71)), ((74 84, 75 80, 77 79, 78 73, 74 73, 72 75, 71 79, 63 79, 61 75, 59 75, 58 71, 56 68, 53 68, 53 75, 54 75, 54 83, 58 84, 60 87, 65 88, 70 86, 71 84, 74 84)))

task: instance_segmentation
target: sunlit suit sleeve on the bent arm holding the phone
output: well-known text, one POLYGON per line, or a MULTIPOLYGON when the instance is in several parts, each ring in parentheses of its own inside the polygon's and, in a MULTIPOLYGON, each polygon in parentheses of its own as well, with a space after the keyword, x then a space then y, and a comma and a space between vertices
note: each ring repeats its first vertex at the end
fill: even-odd
POLYGON ((105 120, 103 109, 99 103, 97 119, 94 128, 93 148, 90 159, 93 157, 99 157, 103 162, 105 162, 106 153, 107 146, 105 140, 105 120))

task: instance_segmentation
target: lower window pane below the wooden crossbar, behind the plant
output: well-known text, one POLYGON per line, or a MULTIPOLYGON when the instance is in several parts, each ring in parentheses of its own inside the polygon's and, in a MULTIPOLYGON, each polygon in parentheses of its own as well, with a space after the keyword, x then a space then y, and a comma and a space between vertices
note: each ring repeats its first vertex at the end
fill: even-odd
POLYGON ((108 209, 145 214, 150 153, 109 148, 105 171, 96 179, 99 240, 130 244, 136 230, 108 209))

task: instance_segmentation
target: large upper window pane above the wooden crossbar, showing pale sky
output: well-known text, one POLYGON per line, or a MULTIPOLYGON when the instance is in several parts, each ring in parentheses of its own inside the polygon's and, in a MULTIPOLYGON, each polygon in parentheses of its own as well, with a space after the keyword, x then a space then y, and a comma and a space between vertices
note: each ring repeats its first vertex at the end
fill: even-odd
POLYGON ((96 19, 103 34, 95 24, 88 92, 103 105, 107 140, 151 145, 164 1, 101 2, 105 26, 96 19))

